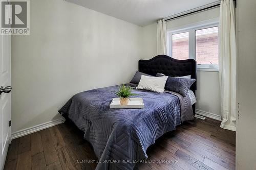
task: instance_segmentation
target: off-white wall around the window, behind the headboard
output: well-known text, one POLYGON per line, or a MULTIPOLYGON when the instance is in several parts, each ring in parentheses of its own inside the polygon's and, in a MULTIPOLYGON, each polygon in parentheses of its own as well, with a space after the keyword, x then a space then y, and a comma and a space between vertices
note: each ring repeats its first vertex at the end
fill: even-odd
MULTIPOLYGON (((218 18, 219 10, 220 8, 214 8, 168 21, 166 28, 172 30, 191 23, 218 18)), ((143 59, 150 59, 156 55, 156 32, 156 23, 143 27, 143 59)), ((197 71, 197 111, 220 118, 220 100, 219 72, 197 71)))

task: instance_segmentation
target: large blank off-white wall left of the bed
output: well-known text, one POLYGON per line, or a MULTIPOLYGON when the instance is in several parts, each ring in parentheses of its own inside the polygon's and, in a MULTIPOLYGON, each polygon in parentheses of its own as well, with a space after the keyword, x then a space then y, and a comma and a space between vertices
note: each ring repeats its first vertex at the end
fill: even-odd
POLYGON ((129 82, 142 28, 62 0, 30 1, 30 36, 12 37, 12 132, 60 118, 77 92, 129 82))

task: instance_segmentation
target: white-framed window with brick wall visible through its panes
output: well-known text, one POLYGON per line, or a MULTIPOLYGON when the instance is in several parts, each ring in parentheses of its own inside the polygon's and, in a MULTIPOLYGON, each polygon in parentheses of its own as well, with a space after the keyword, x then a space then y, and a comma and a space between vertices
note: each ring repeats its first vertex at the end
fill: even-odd
POLYGON ((219 70, 218 21, 168 30, 168 53, 175 59, 193 58, 198 70, 219 70))

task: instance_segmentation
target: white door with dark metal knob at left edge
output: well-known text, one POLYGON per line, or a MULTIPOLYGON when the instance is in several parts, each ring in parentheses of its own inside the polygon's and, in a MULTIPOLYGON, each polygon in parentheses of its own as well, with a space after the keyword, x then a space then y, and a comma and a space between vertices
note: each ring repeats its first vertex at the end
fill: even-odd
POLYGON ((11 86, 11 36, 0 34, 0 169, 4 168, 11 141, 11 93, 8 93, 11 88, 8 86, 11 86))

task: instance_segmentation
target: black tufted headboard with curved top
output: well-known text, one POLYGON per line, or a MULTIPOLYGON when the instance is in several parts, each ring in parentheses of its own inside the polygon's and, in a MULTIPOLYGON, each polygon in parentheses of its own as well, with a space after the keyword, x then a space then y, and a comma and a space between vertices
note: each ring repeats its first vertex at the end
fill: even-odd
MULTIPOLYGON (((191 85, 190 90, 196 94, 197 63, 194 59, 177 60, 166 55, 158 55, 150 60, 139 60, 139 71, 152 76, 156 76, 158 72, 171 77, 191 75, 191 79, 196 81, 191 85)), ((196 104, 192 107, 195 115, 196 104)))

